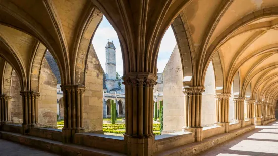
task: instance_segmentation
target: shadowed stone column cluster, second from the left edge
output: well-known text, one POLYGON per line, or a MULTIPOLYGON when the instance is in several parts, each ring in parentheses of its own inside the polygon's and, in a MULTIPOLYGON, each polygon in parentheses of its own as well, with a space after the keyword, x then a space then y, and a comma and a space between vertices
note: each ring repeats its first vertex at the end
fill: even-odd
POLYGON ((25 135, 30 127, 35 127, 38 124, 39 92, 21 91, 20 95, 22 96, 23 111, 22 134, 25 135))

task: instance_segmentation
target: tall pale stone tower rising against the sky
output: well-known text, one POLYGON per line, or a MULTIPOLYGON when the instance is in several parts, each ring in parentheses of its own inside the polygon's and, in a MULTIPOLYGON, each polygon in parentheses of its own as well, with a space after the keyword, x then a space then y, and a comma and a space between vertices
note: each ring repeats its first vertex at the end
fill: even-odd
POLYGON ((112 42, 109 42, 105 46, 106 48, 106 79, 116 79, 116 54, 115 46, 112 42))

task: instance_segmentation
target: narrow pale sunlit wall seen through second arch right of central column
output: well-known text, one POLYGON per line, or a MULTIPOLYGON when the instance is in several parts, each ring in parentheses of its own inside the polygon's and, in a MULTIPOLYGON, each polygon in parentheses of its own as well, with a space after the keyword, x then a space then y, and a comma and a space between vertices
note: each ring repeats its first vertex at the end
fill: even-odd
POLYGON ((209 66, 205 75, 205 92, 202 96, 202 120, 201 126, 213 126, 215 122, 216 110, 215 110, 215 81, 214 81, 214 70, 212 62, 209 66))

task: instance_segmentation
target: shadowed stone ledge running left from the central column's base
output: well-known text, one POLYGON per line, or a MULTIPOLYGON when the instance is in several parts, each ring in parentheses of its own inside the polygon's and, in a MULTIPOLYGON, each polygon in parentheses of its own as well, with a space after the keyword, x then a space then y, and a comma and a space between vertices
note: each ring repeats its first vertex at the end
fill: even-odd
POLYGON ((78 133, 74 135, 74 143, 108 151, 124 153, 124 137, 97 133, 78 133))

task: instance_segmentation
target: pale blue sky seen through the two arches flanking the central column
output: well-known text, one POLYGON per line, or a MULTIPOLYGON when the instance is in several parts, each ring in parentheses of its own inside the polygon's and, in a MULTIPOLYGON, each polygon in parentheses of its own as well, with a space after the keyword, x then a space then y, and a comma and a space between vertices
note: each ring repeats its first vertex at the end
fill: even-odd
MULTIPOLYGON (((108 39, 109 41, 113 41, 114 46, 116 47, 116 71, 119 72, 119 74, 122 76, 123 59, 121 54, 120 42, 116 31, 107 21, 105 16, 103 16, 103 20, 95 32, 92 43, 104 71, 105 71, 105 46, 107 44, 108 39)), ((175 45, 176 45, 176 39, 172 28, 169 27, 161 41, 161 45, 158 53, 158 61, 157 61, 158 73, 163 72, 175 45)))

